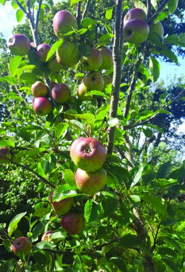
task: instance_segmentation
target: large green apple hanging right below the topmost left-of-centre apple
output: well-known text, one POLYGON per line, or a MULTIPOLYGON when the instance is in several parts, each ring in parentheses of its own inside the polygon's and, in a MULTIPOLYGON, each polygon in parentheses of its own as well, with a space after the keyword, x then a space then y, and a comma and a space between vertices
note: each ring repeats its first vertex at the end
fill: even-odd
POLYGON ((79 45, 64 41, 56 50, 56 60, 66 68, 75 66, 80 59, 79 45))

